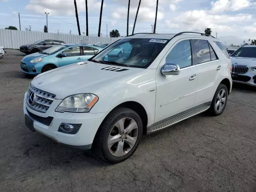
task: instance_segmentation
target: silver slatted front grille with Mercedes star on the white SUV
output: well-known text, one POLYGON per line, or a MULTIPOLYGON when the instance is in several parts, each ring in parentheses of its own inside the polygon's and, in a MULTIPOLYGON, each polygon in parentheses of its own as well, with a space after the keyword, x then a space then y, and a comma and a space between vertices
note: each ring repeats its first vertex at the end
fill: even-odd
POLYGON ((35 88, 31 84, 26 96, 27 105, 33 110, 45 113, 50 108, 56 95, 35 88))

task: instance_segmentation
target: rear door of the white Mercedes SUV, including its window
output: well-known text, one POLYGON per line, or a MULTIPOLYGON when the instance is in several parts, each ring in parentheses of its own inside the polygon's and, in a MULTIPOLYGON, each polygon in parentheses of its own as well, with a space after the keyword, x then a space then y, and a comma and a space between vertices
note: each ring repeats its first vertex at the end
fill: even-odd
POLYGON ((218 78, 222 75, 222 62, 208 40, 193 39, 195 62, 198 68, 195 106, 210 102, 218 78))

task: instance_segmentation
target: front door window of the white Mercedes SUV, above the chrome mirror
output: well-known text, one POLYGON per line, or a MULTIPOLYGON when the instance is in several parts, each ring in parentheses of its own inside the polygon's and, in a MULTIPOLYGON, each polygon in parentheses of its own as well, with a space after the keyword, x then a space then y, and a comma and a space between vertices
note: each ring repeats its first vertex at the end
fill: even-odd
POLYGON ((166 56, 166 63, 178 64, 180 68, 192 65, 190 40, 178 42, 166 56))

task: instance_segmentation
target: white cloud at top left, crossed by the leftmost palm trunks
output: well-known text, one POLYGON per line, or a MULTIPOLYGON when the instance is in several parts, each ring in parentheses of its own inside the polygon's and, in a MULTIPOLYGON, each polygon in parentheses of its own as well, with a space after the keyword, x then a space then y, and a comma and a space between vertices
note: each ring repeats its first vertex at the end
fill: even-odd
MULTIPOLYGON (((78 12, 85 11, 85 1, 76 0, 78 12)), ((100 0, 88 0, 88 10, 100 10, 100 0)), ((103 7, 106 3, 103 4, 103 7)), ((30 0, 26 6, 27 10, 32 10, 37 13, 49 12, 50 15, 74 15, 73 0, 30 0)))

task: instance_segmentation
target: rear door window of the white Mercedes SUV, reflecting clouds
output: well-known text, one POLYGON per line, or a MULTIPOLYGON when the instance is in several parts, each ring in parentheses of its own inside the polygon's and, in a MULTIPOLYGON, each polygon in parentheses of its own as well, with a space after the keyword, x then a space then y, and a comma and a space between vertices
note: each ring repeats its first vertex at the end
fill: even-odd
POLYGON ((207 40, 194 40, 194 50, 197 63, 204 63, 211 60, 210 49, 207 40))

